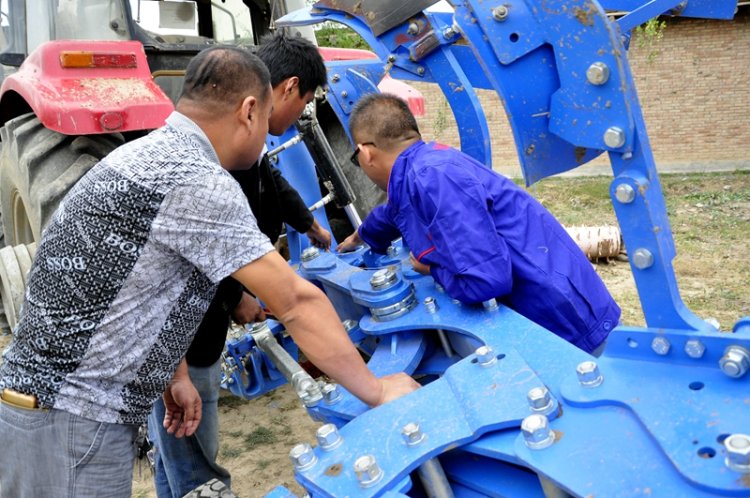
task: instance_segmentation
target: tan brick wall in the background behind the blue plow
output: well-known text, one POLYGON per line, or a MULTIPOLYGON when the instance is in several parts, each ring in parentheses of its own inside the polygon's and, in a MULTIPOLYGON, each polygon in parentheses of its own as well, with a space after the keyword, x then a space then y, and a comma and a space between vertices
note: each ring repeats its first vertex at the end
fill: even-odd
MULTIPOLYGON (((740 8, 733 21, 665 20, 663 38, 652 48, 639 47, 634 38, 629 51, 657 167, 750 168, 750 8, 740 8)), ((419 120, 425 138, 458 146, 440 89, 412 84, 425 96, 426 115, 419 120)), ((518 176, 505 111, 494 92, 478 93, 489 121, 493 166, 518 176)), ((608 165, 605 155, 586 168, 606 171, 608 165)))

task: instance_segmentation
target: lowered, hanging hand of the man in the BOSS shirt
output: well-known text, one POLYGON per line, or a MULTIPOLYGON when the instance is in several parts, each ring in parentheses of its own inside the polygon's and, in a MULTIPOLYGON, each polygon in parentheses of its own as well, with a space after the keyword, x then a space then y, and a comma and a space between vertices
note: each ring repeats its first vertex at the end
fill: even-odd
POLYGON ((162 398, 167 432, 175 437, 192 436, 201 421, 203 405, 198 390, 190 381, 185 360, 180 363, 162 398))

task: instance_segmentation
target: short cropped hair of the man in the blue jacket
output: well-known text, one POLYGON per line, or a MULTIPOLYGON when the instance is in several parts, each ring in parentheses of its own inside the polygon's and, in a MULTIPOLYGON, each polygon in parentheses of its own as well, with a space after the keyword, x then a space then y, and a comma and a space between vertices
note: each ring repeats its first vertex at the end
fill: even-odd
POLYGON ((377 92, 357 101, 349 116, 349 133, 352 138, 372 141, 386 150, 421 137, 409 105, 395 95, 377 92))

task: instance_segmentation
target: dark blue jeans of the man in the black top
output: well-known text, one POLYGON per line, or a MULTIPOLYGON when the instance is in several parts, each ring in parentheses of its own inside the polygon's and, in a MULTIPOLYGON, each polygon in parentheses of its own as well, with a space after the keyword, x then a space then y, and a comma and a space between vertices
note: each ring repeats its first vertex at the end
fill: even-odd
POLYGON ((219 479, 229 487, 226 469, 216 463, 219 453, 219 384, 221 360, 210 367, 188 367, 190 380, 203 402, 198 430, 176 438, 164 429, 164 402, 159 399, 148 418, 148 434, 156 447, 154 485, 159 498, 182 498, 196 487, 219 479))

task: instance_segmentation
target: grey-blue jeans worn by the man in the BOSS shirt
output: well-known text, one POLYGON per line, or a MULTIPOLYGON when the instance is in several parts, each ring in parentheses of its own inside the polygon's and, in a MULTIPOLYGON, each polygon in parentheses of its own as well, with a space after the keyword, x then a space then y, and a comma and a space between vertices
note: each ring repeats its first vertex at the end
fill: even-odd
POLYGON ((0 404, 0 493, 130 498, 137 425, 0 404))

